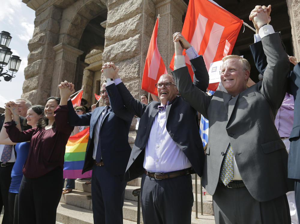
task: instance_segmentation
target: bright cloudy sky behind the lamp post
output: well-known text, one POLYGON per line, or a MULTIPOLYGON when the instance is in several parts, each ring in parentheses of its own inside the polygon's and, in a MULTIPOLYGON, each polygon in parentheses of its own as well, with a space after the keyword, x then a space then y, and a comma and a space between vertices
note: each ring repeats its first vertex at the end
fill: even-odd
MULTIPOLYGON (((10 33, 12 38, 8 47, 13 52, 12 55, 17 55, 22 60, 19 71, 14 74, 16 77, 11 82, 6 82, 0 77, 0 107, 4 108, 5 102, 20 98, 23 92, 24 68, 27 66, 29 54, 27 44, 34 31, 35 11, 27 7, 22 0, 0 0, 0 5, 0 31, 10 33)), ((8 65, 2 72, 6 70, 8 65)))

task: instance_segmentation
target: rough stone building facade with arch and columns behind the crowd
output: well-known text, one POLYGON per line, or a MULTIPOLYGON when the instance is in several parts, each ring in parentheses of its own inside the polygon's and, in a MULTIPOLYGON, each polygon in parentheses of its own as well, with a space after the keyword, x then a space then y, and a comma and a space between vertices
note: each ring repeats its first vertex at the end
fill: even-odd
MULTIPOLYGON (((188 0, 22 0, 22 2, 35 10, 36 16, 33 37, 28 43, 30 54, 28 66, 24 71, 22 97, 34 104, 44 104, 47 97, 58 96, 57 85, 61 81, 68 80, 75 84, 75 89, 83 88, 83 98, 88 101, 88 106, 96 102, 94 93, 99 93, 100 85, 104 81, 100 71, 103 62, 113 61, 117 64, 122 80, 134 97, 138 98, 143 92, 141 90, 143 68, 158 14, 161 16, 158 48, 170 72, 168 67, 174 53, 172 35, 182 30, 188 4, 188 0)), ((250 22, 247 16, 252 8, 260 3, 236 0, 216 0, 216 2, 248 24, 250 22)), ((291 51, 298 60, 300 60, 299 3, 299 0, 272 1, 274 5, 272 11, 273 9, 276 11, 276 8, 281 9, 280 11, 286 8, 286 22, 281 23, 279 30, 286 30, 286 34, 283 32, 282 36, 291 43, 291 51)), ((279 20, 284 21, 281 17, 279 20)), ((242 54, 243 49, 253 41, 252 31, 245 29, 245 32, 249 33, 248 39, 238 37, 234 48, 237 54, 242 54)), ((240 34, 245 35, 242 31, 240 34)), ((100 105, 103 105, 101 101, 100 105)))

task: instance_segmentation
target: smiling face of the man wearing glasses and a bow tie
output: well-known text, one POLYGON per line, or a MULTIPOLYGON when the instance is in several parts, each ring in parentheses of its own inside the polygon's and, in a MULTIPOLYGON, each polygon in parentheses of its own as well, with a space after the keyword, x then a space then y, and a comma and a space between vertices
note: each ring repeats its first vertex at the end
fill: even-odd
MULTIPOLYGON (((158 83, 167 83, 167 82, 175 83, 172 76, 170 75, 162 75, 158 80, 158 83)), ((161 100, 161 103, 164 105, 167 104, 167 101, 174 100, 178 95, 177 86, 175 86, 174 84, 171 84, 169 88, 166 88, 165 85, 163 85, 160 89, 157 89, 157 92, 158 92, 158 97, 161 100)))

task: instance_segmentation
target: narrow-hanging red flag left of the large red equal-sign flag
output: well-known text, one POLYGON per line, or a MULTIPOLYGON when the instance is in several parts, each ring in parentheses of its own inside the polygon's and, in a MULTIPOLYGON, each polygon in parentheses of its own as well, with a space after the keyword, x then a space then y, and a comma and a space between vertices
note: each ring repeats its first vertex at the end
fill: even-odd
POLYGON ((154 95, 157 95, 155 84, 158 83, 159 77, 162 74, 168 74, 166 66, 157 47, 157 30, 159 18, 160 17, 158 14, 158 18, 156 20, 148 48, 142 79, 142 89, 154 95))

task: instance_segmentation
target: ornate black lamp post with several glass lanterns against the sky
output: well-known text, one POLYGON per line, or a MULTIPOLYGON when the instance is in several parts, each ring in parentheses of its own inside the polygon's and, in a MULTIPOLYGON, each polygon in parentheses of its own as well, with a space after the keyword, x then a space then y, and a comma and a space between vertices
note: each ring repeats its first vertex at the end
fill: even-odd
MULTIPOLYGON (((13 52, 10 51, 8 45, 10 43, 10 33, 2 31, 0 33, 0 77, 3 76, 5 81, 11 81, 13 77, 16 77, 14 73, 19 70, 21 59, 19 56, 11 55, 13 52), (3 67, 8 64, 8 70, 11 74, 6 72, 2 73, 3 67)), ((1 81, 1 80, 0 80, 1 81)))

